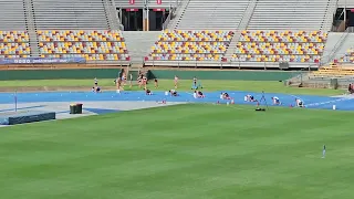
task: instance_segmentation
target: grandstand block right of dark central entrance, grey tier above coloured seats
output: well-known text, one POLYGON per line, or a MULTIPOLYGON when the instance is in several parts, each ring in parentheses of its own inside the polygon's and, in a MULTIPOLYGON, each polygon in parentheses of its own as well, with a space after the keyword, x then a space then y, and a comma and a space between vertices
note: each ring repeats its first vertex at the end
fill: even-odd
POLYGON ((177 17, 158 38, 145 65, 279 69, 279 63, 287 63, 285 67, 316 67, 326 50, 336 9, 335 0, 190 0, 181 4, 183 11, 177 10, 177 17), (187 51, 175 51, 186 50, 186 42, 162 41, 170 30, 183 35, 230 31, 232 36, 220 43, 210 41, 208 34, 199 34, 206 36, 200 40, 210 41, 211 51, 195 51, 200 42, 194 40, 188 42, 187 51))

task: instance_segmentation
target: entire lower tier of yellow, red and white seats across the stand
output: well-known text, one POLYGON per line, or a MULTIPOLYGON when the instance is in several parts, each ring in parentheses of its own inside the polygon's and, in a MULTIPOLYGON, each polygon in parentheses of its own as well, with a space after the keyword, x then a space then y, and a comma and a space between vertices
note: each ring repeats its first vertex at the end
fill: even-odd
MULTIPOLYGON (((52 30, 37 33, 43 57, 129 60, 119 31, 52 30)), ((150 48, 148 60, 222 61, 227 50, 235 49, 231 61, 316 62, 327 39, 327 33, 322 31, 246 30, 241 31, 236 46, 230 46, 233 35, 233 31, 165 30, 150 48)), ((25 31, 0 31, 0 53, 3 57, 29 56, 29 34, 25 31)), ((354 57, 348 53, 343 61, 354 61, 354 57)))

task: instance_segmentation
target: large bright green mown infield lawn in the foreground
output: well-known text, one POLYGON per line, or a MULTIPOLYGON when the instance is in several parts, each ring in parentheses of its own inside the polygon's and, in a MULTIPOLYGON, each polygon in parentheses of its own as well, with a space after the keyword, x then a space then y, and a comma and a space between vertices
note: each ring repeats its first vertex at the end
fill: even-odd
POLYGON ((352 199, 353 116, 178 105, 2 128, 1 198, 352 199))

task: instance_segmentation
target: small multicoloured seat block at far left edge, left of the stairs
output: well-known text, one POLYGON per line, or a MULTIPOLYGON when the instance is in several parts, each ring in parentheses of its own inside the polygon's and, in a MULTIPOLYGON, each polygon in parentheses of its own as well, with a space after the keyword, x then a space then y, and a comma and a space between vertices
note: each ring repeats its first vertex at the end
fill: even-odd
POLYGON ((29 34, 24 31, 0 31, 0 59, 29 57, 29 34))

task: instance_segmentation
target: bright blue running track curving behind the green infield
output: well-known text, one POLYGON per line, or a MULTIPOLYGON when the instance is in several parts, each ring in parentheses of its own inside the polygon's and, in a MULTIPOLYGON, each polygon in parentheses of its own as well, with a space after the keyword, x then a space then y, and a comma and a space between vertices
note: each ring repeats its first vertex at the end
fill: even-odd
MULTIPOLYGON (((225 91, 235 101, 235 104, 256 104, 244 102, 243 97, 247 94, 251 94, 256 100, 260 100, 261 93, 239 92, 239 91, 225 91)), ((205 98, 194 98, 191 92, 180 92, 179 96, 166 96, 165 92, 155 92, 153 95, 145 95, 144 92, 123 92, 117 94, 115 92, 46 92, 46 93, 18 93, 18 103, 37 103, 37 102, 96 102, 96 101, 155 101, 155 102, 190 102, 190 103, 217 103, 226 104, 226 100, 220 100, 220 92, 205 93, 205 98)), ((274 94, 266 93, 268 105, 272 105, 271 97, 278 96, 282 103, 281 106, 294 106, 295 98, 301 98, 304 102, 306 108, 322 108, 332 109, 333 105, 339 111, 354 111, 354 98, 342 97, 327 97, 327 96, 311 96, 311 95, 288 95, 288 94, 274 94)), ((0 104, 14 103, 13 93, 0 93, 0 104)))

